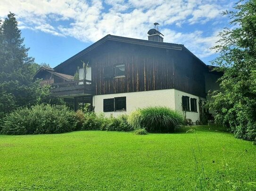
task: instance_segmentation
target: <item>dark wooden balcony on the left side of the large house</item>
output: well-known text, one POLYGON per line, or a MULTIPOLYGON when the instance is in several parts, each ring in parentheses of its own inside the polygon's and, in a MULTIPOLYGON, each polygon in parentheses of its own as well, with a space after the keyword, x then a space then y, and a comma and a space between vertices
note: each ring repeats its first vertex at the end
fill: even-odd
POLYGON ((53 97, 73 98, 76 96, 93 95, 94 86, 90 80, 77 80, 52 84, 50 95, 53 97))

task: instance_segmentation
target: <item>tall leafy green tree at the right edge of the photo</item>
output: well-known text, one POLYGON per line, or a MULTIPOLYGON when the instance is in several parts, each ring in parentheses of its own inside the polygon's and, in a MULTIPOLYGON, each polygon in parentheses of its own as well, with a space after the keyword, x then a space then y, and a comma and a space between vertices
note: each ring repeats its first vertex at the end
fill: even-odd
POLYGON ((215 110, 215 121, 228 127, 235 137, 256 138, 256 1, 240 0, 233 11, 225 11, 231 28, 219 34, 213 47, 219 56, 213 61, 223 72, 221 91, 212 92, 208 106, 215 110))

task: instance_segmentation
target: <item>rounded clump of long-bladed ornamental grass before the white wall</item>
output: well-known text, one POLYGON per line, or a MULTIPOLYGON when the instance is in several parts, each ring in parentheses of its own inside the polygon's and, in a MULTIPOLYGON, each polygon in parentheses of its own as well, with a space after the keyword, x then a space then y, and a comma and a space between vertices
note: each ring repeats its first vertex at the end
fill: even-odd
POLYGON ((183 124, 183 116, 168 107, 146 107, 137 109, 128 117, 133 128, 145 128, 148 132, 173 132, 183 124))

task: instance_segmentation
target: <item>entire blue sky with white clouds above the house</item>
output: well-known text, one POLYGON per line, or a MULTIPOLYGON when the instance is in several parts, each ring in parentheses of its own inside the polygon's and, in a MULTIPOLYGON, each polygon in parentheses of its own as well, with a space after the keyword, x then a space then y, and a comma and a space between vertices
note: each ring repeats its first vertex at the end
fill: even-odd
POLYGON ((36 63, 55 67, 107 34, 148 39, 159 23, 164 42, 185 45, 206 64, 217 54, 221 15, 231 0, 0 0, 0 19, 16 15, 36 63))

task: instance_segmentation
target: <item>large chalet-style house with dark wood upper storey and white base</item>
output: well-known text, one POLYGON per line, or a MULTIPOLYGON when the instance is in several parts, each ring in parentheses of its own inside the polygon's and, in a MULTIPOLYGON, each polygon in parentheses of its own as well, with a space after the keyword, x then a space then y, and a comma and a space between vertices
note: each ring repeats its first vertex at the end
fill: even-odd
POLYGON ((157 29, 148 34, 149 40, 107 35, 62 62, 54 72, 74 76, 79 67, 80 78, 53 84, 51 95, 74 99, 75 110, 89 103, 92 111, 108 116, 166 106, 201 121, 202 101, 209 90, 218 89, 219 74, 184 45, 163 42, 157 29))

